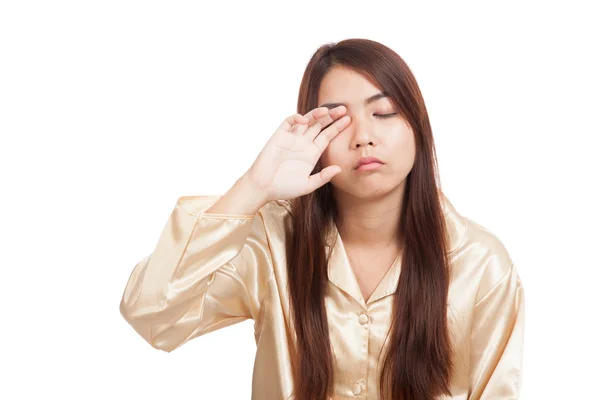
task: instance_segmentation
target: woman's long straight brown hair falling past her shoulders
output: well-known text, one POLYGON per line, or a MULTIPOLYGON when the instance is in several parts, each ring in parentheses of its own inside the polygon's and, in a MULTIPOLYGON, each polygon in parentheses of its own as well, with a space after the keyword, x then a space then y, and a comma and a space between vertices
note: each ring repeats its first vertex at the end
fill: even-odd
MULTIPOLYGON (((402 272, 379 378, 380 398, 431 400, 450 394, 448 237, 435 147, 421 91, 409 67, 393 50, 372 40, 347 39, 325 44, 313 54, 300 85, 298 113, 306 114, 318 106, 321 81, 335 65, 350 67, 376 83, 415 135, 415 163, 406 177, 399 221, 404 238, 402 272)), ((320 168, 317 164, 313 173, 320 168)), ((328 290, 326 234, 337 212, 330 185, 291 201, 287 269, 296 335, 291 349, 295 400, 324 400, 333 395, 334 365, 324 302, 328 290)))

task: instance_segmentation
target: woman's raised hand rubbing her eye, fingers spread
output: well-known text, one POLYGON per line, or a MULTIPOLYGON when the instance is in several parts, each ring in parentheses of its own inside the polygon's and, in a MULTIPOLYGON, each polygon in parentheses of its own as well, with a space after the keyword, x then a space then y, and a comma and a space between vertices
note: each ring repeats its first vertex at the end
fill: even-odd
POLYGON ((246 172, 248 180, 257 191, 264 193, 266 201, 289 200, 308 194, 341 171, 341 167, 330 165, 310 175, 329 142, 348 126, 350 117, 345 113, 344 106, 331 110, 320 107, 283 121, 246 172))

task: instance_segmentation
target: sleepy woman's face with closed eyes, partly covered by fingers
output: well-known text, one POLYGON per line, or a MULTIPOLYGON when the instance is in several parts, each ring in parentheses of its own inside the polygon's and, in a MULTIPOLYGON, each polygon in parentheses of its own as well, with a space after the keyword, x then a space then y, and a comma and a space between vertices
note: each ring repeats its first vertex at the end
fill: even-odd
POLYGON ((378 197, 398 188, 415 159, 413 131, 392 101, 382 97, 365 104, 366 99, 380 92, 381 88, 344 66, 329 70, 319 88, 319 106, 342 103, 346 115, 351 117, 350 124, 321 155, 321 166, 340 166, 342 171, 333 177, 331 184, 335 190, 359 198, 378 197), (392 113, 396 114, 379 117, 392 113), (358 159, 369 156, 379 158, 384 164, 370 171, 357 170, 358 159))

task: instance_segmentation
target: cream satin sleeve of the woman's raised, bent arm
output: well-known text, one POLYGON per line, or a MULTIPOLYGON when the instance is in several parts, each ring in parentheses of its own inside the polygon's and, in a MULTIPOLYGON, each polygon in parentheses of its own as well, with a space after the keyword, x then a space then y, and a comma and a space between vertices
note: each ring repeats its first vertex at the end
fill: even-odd
POLYGON ((205 213, 220 197, 180 197, 129 276, 121 315, 154 348, 256 320, 273 271, 264 215, 205 213))

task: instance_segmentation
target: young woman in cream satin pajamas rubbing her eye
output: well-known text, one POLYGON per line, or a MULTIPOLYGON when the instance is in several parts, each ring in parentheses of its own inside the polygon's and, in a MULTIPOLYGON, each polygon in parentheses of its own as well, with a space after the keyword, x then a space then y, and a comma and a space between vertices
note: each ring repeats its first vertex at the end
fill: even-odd
POLYGON ((436 165, 402 58, 324 45, 231 189, 177 200, 120 312, 168 352, 252 318, 253 399, 516 399, 521 281, 436 165))

